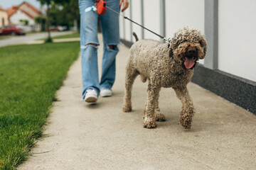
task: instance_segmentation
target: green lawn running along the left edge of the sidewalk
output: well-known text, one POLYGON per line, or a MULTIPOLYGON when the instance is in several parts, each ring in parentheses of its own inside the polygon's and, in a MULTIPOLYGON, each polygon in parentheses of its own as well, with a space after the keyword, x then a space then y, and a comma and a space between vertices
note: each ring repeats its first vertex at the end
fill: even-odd
POLYGON ((0 169, 15 169, 41 137, 79 47, 61 42, 0 48, 0 169))

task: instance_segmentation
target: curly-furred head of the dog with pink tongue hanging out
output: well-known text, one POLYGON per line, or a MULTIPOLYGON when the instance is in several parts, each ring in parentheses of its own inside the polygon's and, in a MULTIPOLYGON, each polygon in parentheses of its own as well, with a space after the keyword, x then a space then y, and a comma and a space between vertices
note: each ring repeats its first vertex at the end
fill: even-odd
POLYGON ((196 67, 198 60, 206 56, 207 42, 199 30, 185 27, 174 33, 171 39, 170 54, 186 69, 196 67))

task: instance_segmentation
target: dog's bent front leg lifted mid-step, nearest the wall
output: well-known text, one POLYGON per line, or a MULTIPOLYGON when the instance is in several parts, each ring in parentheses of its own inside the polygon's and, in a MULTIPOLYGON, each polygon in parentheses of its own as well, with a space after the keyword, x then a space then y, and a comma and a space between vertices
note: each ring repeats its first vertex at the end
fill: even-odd
POLYGON ((181 100, 182 103, 182 111, 181 111, 181 125, 185 129, 191 128, 192 123, 192 117, 195 113, 195 110, 193 108, 193 102, 191 100, 191 97, 188 94, 188 89, 186 86, 174 88, 176 92, 176 96, 181 100))

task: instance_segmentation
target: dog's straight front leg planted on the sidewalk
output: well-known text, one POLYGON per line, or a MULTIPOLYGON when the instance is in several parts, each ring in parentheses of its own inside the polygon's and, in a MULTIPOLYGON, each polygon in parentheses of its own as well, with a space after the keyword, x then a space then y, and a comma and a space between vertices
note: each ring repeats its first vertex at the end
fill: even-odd
POLYGON ((149 81, 149 86, 147 90, 148 96, 146 98, 146 105, 144 108, 144 128, 156 128, 156 118, 154 115, 154 111, 156 107, 156 100, 159 96, 159 91, 160 88, 158 86, 152 85, 149 81))

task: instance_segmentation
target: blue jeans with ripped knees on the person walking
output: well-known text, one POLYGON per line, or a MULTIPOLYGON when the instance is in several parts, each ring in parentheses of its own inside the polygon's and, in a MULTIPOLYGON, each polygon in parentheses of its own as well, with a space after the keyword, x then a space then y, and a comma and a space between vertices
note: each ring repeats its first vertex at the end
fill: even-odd
MULTIPOLYGON (((97 21, 99 15, 93 11, 85 12, 85 8, 93 6, 94 0, 79 0, 80 9, 80 51, 82 63, 82 99, 85 98, 87 89, 95 89, 97 95, 100 89, 111 89, 115 79, 115 64, 117 45, 119 45, 119 16, 107 9, 100 16, 103 35, 102 77, 99 81, 97 65, 97 47, 100 45, 97 38, 97 21), (94 45, 92 45, 94 44, 94 45), (110 48, 109 45, 114 47, 110 48)), ((120 10, 119 0, 106 0, 107 6, 114 11, 120 10)))

